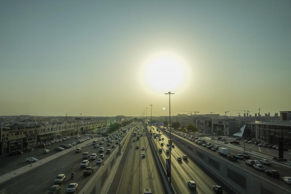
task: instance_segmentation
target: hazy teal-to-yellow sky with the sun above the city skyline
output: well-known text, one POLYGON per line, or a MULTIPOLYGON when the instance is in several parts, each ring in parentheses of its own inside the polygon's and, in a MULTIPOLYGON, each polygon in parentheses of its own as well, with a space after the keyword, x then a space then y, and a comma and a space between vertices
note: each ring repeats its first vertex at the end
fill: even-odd
POLYGON ((290 62, 289 0, 0 1, 0 115, 273 115, 290 62))

